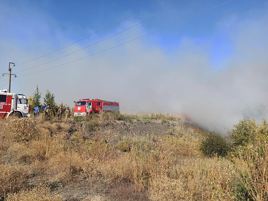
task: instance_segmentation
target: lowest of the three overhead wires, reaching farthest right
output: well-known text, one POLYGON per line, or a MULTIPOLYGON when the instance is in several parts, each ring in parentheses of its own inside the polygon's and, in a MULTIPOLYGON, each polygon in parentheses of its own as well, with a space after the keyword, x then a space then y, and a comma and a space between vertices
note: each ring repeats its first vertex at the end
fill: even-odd
POLYGON ((155 30, 155 31, 153 31, 153 32, 150 32, 150 33, 148 33, 148 34, 144 34, 144 35, 142 35, 142 36, 140 36, 140 37, 137 37, 137 38, 132 39, 132 40, 129 40, 129 41, 127 41, 127 42, 124 42, 124 43, 121 43, 121 44, 119 44, 119 45, 113 46, 113 47, 111 47, 111 48, 105 49, 105 50, 103 50, 103 51, 99 51, 99 52, 97 52, 97 53, 95 53, 95 54, 91 54, 91 55, 82 57, 82 58, 80 58, 80 59, 73 60, 73 61, 71 61, 71 62, 67 62, 67 63, 61 64, 61 65, 58 65, 58 66, 50 67, 50 68, 47 68, 47 69, 44 69, 44 70, 40 70, 40 71, 37 71, 37 72, 34 72, 34 73, 28 73, 28 74, 21 75, 21 76, 17 76, 17 77, 22 77, 22 76, 32 75, 32 74, 35 74, 35 73, 40 73, 40 72, 45 71, 45 70, 50 70, 50 69, 52 69, 52 68, 60 67, 60 66, 63 66, 63 65, 69 64, 69 63, 73 63, 73 62, 79 61, 79 60, 81 60, 81 59, 85 59, 85 58, 87 58, 87 57, 90 57, 90 56, 93 56, 93 55, 96 55, 96 54, 105 52, 105 51, 107 51, 107 50, 116 48, 116 47, 118 47, 118 46, 121 46, 121 45, 124 45, 124 44, 126 44, 126 43, 132 42, 132 41, 134 41, 134 40, 137 40, 137 39, 139 39, 139 38, 141 38, 141 37, 144 37, 144 36, 147 36, 147 35, 149 35, 149 34, 158 32, 158 31, 160 31, 160 30, 162 30, 162 29, 166 29, 166 28, 168 28, 168 27, 170 27, 170 26, 173 26, 173 25, 175 25, 175 24, 178 24, 178 23, 180 23, 180 22, 186 21, 186 20, 188 20, 188 19, 190 19, 190 18, 193 18, 193 17, 195 17, 195 16, 197 16, 197 15, 200 15, 200 14, 202 14, 202 13, 204 13, 204 12, 210 11, 210 10, 212 10, 212 9, 215 9, 215 8, 219 7, 219 6, 222 6, 222 5, 224 5, 224 4, 227 4, 227 3, 229 3, 230 1, 233 1, 233 0, 226 1, 226 2, 224 2, 224 3, 222 3, 222 4, 219 4, 219 5, 215 6, 215 7, 210 8, 210 9, 208 9, 208 10, 204 10, 204 11, 202 11, 202 12, 199 12, 199 13, 195 14, 195 15, 191 15, 191 16, 188 17, 188 18, 185 18, 185 19, 183 19, 183 20, 177 21, 177 22, 172 23, 172 24, 170 24, 170 25, 168 25, 168 26, 164 26, 164 27, 162 27, 162 28, 160 28, 160 29, 157 29, 157 30, 155 30))

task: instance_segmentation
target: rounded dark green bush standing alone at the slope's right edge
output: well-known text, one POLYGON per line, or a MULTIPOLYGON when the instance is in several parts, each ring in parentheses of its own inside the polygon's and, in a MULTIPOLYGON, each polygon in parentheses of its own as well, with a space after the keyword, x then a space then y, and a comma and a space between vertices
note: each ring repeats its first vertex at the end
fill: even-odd
POLYGON ((226 156, 228 153, 228 143, 226 139, 218 134, 211 132, 205 136, 202 140, 200 150, 205 154, 205 156, 226 156))

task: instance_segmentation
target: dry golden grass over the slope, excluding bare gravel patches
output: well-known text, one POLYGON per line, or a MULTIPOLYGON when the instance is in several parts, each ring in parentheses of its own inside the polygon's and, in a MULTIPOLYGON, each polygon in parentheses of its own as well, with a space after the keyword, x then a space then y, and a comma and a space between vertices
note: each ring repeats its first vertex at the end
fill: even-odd
POLYGON ((46 186, 21 189, 38 183, 68 185, 86 179, 88 183, 102 183, 103 192, 116 200, 231 201, 236 200, 232 183, 239 180, 238 167, 239 172, 243 172, 241 182, 252 197, 263 201, 267 196, 267 145, 249 148, 246 158, 233 164, 226 158, 202 156, 196 134, 203 135, 203 131, 181 123, 183 118, 188 121, 188 117, 101 113, 87 118, 87 132, 77 131, 71 136, 66 136, 71 126, 69 120, 68 123, 29 120, 30 123, 22 124, 26 129, 23 134, 17 129, 19 124, 16 129, 12 126, 8 131, 4 129, 5 124, 22 120, 2 120, 0 197, 11 193, 6 200, 60 200, 60 196, 51 194, 46 186), (131 121, 133 118, 180 121, 175 122, 168 136, 162 137, 149 134, 122 137, 114 130, 101 129, 106 120, 131 121), (20 136, 24 136, 24 140, 20 140, 20 136), (36 179, 34 184, 29 175, 36 179))

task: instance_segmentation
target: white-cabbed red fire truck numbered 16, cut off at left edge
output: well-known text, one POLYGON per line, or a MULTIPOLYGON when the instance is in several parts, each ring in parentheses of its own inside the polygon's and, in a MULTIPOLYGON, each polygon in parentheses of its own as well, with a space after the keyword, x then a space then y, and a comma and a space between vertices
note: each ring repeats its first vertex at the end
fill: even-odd
POLYGON ((16 117, 29 117, 30 107, 28 99, 23 94, 8 93, 7 89, 0 90, 0 117, 10 115, 16 117))

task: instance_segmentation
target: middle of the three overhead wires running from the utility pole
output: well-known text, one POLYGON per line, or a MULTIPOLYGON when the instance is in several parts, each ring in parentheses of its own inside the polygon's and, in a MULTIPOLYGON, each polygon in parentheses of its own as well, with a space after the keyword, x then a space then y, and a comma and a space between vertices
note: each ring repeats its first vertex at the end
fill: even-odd
MULTIPOLYGON (((186 0, 186 1, 189 1, 189 0, 186 0)), ((140 23, 137 23, 137 24, 135 24, 135 25, 133 25, 133 26, 127 28, 127 29, 124 29, 124 30, 121 31, 121 32, 118 32, 118 33, 116 33, 116 34, 113 34, 113 35, 111 35, 111 36, 109 36, 109 37, 107 37, 107 38, 105 38, 105 39, 99 40, 99 41, 96 42, 96 43, 92 43, 91 45, 88 45, 88 46, 86 46, 86 47, 84 47, 84 48, 82 48, 82 49, 79 49, 79 50, 77 50, 77 51, 71 52, 70 54, 66 54, 66 55, 61 56, 61 57, 59 57, 59 58, 57 58, 57 59, 53 59, 53 60, 51 60, 51 61, 49 61, 49 62, 46 62, 46 63, 40 64, 40 65, 37 65, 37 66, 34 66, 34 67, 30 67, 30 68, 27 68, 27 69, 18 71, 18 72, 16 72, 16 73, 21 73, 21 72, 23 72, 23 71, 26 71, 26 70, 30 70, 30 69, 39 67, 39 66, 48 64, 48 63, 50 63, 50 62, 54 62, 54 61, 56 61, 56 60, 58 60, 58 59, 62 59, 63 57, 66 57, 66 56, 69 56, 69 55, 74 54, 74 53, 76 53, 76 52, 79 52, 79 51, 81 51, 81 50, 83 50, 83 49, 85 49, 85 48, 88 48, 88 47, 90 47, 90 46, 92 46, 92 45, 95 45, 95 44, 100 43, 100 42, 102 42, 102 41, 104 41, 104 40, 107 40, 107 39, 109 39, 109 38, 111 38, 111 37, 114 37, 114 36, 116 36, 116 35, 118 35, 118 34, 120 34, 120 33, 122 33, 122 32, 125 32, 125 31, 127 31, 127 30, 129 30, 129 29, 131 29, 131 28, 133 28, 133 27, 135 27, 135 26, 138 26, 139 24, 144 23, 144 22, 146 22, 146 21, 148 21, 148 20, 150 20, 150 19, 152 19, 152 18, 154 18, 154 17, 156 17, 156 16, 158 16, 158 15, 161 15, 161 14, 163 14, 164 12, 167 12, 167 11, 171 10, 172 8, 177 7, 177 6, 179 6, 179 5, 183 4, 183 3, 185 3, 186 1, 183 1, 182 3, 179 3, 179 4, 175 5, 175 6, 172 6, 171 8, 169 8, 169 9, 167 9, 167 10, 164 10, 164 11, 158 13, 157 15, 154 15, 154 16, 152 16, 152 17, 150 17, 150 18, 148 18, 148 19, 146 19, 146 20, 144 20, 144 21, 142 21, 142 22, 140 22, 140 23)))

